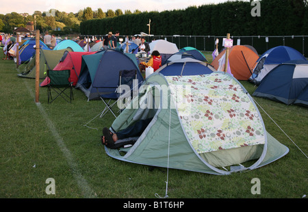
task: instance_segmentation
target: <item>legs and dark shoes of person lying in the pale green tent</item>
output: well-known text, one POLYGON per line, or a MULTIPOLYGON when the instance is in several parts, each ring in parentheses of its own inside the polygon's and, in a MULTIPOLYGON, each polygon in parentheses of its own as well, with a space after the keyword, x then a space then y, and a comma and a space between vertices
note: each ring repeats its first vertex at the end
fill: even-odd
POLYGON ((101 142, 107 148, 116 149, 125 145, 133 145, 138 140, 138 137, 148 127, 153 118, 147 118, 145 120, 138 120, 135 124, 112 133, 107 127, 103 128, 103 136, 101 136, 101 142))

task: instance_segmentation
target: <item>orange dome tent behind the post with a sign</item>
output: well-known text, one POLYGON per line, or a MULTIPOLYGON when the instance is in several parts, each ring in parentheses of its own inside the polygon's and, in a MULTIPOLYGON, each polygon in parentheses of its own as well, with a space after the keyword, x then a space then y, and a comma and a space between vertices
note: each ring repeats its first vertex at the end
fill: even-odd
MULTIPOLYGON (((219 68, 219 59, 222 58, 226 50, 211 62, 216 70, 219 68)), ((238 80, 248 80, 251 77, 255 62, 259 58, 254 51, 242 45, 236 45, 229 49, 229 65, 232 75, 238 80)))

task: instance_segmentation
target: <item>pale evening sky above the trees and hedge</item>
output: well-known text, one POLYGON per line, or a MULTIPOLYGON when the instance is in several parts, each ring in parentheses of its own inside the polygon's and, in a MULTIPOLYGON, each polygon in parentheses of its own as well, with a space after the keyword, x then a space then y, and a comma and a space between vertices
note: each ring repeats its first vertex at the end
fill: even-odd
POLYGON ((101 8, 103 12, 107 10, 120 9, 125 10, 157 11, 164 10, 182 10, 190 6, 204 5, 210 3, 222 3, 227 0, 14 0, 14 5, 8 3, 7 0, 0 0, 0 14, 8 14, 11 12, 29 13, 34 11, 49 11, 50 9, 59 10, 60 12, 77 13, 79 10, 90 7, 92 10, 101 8))

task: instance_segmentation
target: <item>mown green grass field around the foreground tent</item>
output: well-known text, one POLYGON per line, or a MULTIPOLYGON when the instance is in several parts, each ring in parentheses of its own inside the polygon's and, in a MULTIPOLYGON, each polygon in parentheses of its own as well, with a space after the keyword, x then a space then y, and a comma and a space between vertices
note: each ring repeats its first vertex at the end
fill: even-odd
MULTIPOLYGON (((210 61, 211 55, 206 56, 210 61)), ((165 195, 166 168, 150 170, 106 155, 101 129, 110 127, 114 117, 109 113, 94 118, 103 109, 101 101, 87 101, 84 93, 74 89, 71 104, 61 98, 47 104, 47 88, 40 88, 37 104, 35 79, 18 77, 18 72, 14 62, 0 60, 0 198, 165 195), (90 120, 88 126, 97 129, 84 126, 90 120), (55 194, 47 194, 47 178, 55 180, 55 194)), ((255 90, 251 83, 241 83, 251 94, 255 90)), ((260 109, 267 131, 290 153, 263 168, 229 176, 169 170, 170 198, 302 198, 308 194, 307 157, 299 150, 308 153, 308 109, 255 100, 297 146, 260 109), (259 178, 261 194, 251 193, 253 178, 259 178)))

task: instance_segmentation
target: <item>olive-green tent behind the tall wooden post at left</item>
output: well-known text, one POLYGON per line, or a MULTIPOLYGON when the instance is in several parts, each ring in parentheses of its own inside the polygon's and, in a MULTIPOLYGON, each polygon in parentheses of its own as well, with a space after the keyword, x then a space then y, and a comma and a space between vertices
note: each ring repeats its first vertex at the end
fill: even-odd
MULTIPOLYGON (((40 49, 40 79, 44 79, 44 73, 47 69, 52 70, 58 64, 65 51, 72 51, 72 49, 61 49, 61 50, 44 50, 40 49)), ((27 66, 19 77, 36 78, 36 56, 32 57, 27 66)))

